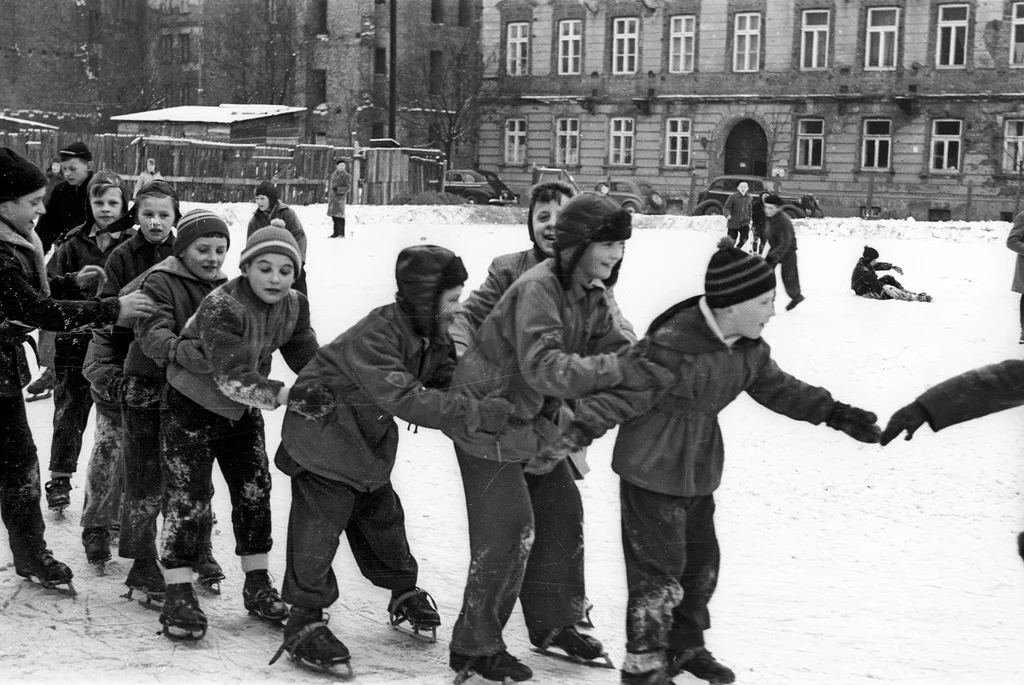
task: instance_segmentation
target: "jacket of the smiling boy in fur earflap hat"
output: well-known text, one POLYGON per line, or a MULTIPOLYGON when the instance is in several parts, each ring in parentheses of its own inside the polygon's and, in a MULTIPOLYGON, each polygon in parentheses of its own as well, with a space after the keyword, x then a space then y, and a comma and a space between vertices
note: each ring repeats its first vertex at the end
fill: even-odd
POLYGON ((499 396, 515 406, 513 429, 497 438, 450 434, 467 453, 496 461, 527 461, 557 437, 566 400, 623 380, 616 352, 631 346, 615 326, 600 287, 573 279, 563 290, 548 259, 505 292, 459 360, 453 388, 470 397, 499 396))

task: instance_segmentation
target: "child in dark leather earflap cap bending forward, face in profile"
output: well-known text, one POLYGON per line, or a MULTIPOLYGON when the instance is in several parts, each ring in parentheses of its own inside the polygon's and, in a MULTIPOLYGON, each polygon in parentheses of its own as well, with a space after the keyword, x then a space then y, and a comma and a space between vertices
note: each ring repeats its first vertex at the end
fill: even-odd
POLYGON ((391 485, 401 419, 428 428, 479 424, 499 432, 511 404, 444 392, 455 370, 446 327, 466 270, 444 248, 406 248, 395 266, 396 301, 378 307, 322 347, 296 381, 313 388, 285 416, 275 463, 292 477, 284 598, 292 604, 285 649, 321 666, 348 650, 323 623, 338 599, 331 569, 344 531, 362 574, 391 591, 392 625, 436 632, 440 618, 417 584, 404 514, 391 485), (313 401, 312 396, 322 398, 313 401))

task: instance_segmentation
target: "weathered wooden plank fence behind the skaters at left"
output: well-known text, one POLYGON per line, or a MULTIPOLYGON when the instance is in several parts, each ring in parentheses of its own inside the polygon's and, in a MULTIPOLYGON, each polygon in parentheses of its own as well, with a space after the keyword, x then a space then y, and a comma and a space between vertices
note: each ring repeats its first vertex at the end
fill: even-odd
POLYGON ((259 183, 270 180, 288 204, 323 203, 327 201, 328 178, 339 158, 352 162, 351 204, 388 204, 397 197, 428 189, 428 181, 443 173, 436 151, 418 148, 307 144, 293 148, 116 133, 0 131, 0 144, 25 155, 41 169, 57 151, 76 140, 92 151, 94 169, 111 169, 132 182, 145 169, 146 159, 156 160, 157 170, 178 197, 191 202, 248 202, 259 183))

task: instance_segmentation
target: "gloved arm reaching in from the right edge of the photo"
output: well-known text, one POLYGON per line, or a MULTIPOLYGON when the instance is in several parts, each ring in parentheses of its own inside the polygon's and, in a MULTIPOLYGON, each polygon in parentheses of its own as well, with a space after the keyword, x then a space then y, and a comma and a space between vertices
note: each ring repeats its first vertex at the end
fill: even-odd
MULTIPOLYGON (((1024 361, 1007 359, 979 367, 933 385, 898 410, 882 432, 882 444, 889 444, 903 431, 909 440, 926 422, 938 432, 1021 404, 1024 404, 1024 361)), ((1024 559, 1024 532, 1017 537, 1017 550, 1024 559)))

